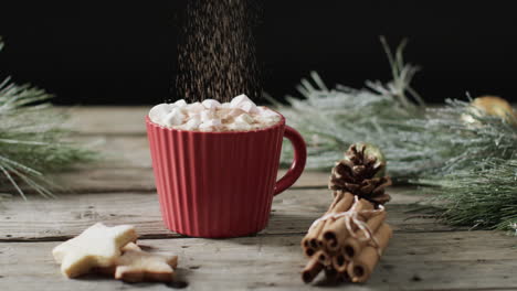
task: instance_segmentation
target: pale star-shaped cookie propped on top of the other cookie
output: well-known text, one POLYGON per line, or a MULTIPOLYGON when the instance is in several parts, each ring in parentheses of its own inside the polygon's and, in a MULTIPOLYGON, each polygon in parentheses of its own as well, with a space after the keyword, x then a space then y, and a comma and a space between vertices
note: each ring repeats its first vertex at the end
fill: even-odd
POLYGON ((120 249, 137 237, 134 226, 107 227, 97 223, 77 237, 56 246, 52 255, 61 263, 61 272, 74 278, 92 268, 113 266, 120 256, 120 249))

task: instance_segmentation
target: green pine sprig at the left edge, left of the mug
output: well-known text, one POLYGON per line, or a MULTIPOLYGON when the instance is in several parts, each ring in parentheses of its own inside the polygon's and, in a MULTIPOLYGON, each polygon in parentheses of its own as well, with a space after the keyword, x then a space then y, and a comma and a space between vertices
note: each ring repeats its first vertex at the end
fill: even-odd
MULTIPOLYGON (((3 43, 0 39, 0 50, 3 43)), ((67 116, 53 108, 53 96, 31 85, 0 83, 0 184, 10 184, 27 198, 21 184, 44 197, 56 187, 46 175, 92 160, 95 154, 64 141, 67 116)))

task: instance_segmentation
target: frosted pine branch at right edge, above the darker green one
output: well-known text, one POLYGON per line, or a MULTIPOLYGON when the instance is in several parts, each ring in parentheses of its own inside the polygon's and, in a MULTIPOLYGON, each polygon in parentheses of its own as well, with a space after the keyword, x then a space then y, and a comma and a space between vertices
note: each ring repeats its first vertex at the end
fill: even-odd
POLYGON ((445 107, 404 122, 400 134, 407 147, 425 153, 423 161, 434 168, 415 177, 484 169, 517 158, 517 128, 500 117, 472 115, 471 108, 469 103, 447 99, 445 107))

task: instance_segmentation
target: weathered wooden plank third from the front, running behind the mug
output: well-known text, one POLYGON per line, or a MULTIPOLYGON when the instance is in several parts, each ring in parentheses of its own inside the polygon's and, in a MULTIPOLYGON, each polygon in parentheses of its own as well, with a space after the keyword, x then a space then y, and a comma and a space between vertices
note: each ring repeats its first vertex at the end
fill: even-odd
MULTIPOLYGON (((74 141, 88 144, 99 152, 99 161, 80 165, 53 175, 62 190, 55 193, 99 193, 99 192, 147 192, 155 191, 152 163, 147 137, 139 136, 92 136, 74 137, 74 141)), ((278 176, 285 173, 279 170, 278 176)), ((294 185, 299 187, 326 187, 328 173, 305 172, 294 185)), ((30 187, 22 186, 28 193, 30 187)), ((2 192, 13 192, 9 184, 0 186, 2 192)))

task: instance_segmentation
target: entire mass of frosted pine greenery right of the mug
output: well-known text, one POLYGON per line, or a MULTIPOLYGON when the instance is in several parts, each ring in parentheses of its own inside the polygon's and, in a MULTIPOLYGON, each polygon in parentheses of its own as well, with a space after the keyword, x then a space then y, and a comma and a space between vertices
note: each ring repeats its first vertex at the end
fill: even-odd
MULTIPOLYGON (((436 194, 444 222, 517 229, 517 127, 473 114, 467 101, 446 100, 445 107, 424 109, 410 85, 418 68, 403 63, 405 43, 393 55, 381 41, 392 82, 329 90, 312 73, 316 85, 303 79, 298 86, 305 99, 288 97, 288 106, 275 103, 307 141, 307 168, 328 170, 349 144, 373 143, 384 152, 395 181, 425 185, 436 194)), ((284 147, 283 163, 292 158, 291 147, 284 147)))

